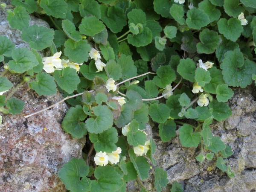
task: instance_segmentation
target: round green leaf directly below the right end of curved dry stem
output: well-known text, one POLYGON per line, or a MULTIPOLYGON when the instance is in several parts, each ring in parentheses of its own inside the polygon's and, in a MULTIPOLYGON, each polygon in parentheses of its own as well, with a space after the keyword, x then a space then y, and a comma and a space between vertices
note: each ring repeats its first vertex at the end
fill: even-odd
POLYGON ((153 121, 164 123, 170 115, 170 109, 163 103, 154 103, 150 106, 148 114, 153 121))

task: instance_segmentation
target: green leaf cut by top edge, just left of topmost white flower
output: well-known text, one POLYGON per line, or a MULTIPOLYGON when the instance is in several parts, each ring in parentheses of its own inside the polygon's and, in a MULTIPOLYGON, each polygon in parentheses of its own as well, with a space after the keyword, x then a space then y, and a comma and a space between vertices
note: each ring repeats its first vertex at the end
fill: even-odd
POLYGON ((154 0, 154 10, 162 15, 162 17, 171 17, 169 10, 172 7, 172 4, 174 4, 174 1, 154 0))

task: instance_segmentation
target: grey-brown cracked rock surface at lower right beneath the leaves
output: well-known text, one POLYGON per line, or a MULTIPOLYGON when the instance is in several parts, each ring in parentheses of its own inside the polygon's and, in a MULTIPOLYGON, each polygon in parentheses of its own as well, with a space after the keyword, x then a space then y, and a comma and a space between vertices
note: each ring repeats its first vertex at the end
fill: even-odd
MULTIPOLYGON (((154 158, 157 166, 167 171, 169 179, 163 192, 169 192, 175 180, 183 185, 184 192, 256 191, 256 87, 251 85, 233 91, 235 94, 228 103, 233 115, 224 121, 212 122, 210 127, 215 136, 232 147, 234 153, 227 160, 236 177, 230 179, 216 168, 216 158, 198 162, 195 157, 200 154, 200 148, 182 147, 178 137, 163 143, 157 128, 153 128, 153 139, 157 145, 154 158)), ((147 189, 154 187, 152 183, 154 168, 149 178, 143 181, 147 189)), ((127 192, 139 192, 140 185, 131 181, 126 189, 127 192)))

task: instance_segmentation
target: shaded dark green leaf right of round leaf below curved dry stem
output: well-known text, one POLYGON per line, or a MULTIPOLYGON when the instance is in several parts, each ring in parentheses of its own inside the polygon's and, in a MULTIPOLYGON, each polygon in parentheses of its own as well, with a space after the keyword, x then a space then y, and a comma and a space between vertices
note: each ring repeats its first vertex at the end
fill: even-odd
POLYGON ((178 113, 181 111, 180 102, 178 101, 179 98, 180 95, 171 95, 166 101, 166 105, 170 109, 170 116, 174 119, 182 119, 178 116, 178 113))

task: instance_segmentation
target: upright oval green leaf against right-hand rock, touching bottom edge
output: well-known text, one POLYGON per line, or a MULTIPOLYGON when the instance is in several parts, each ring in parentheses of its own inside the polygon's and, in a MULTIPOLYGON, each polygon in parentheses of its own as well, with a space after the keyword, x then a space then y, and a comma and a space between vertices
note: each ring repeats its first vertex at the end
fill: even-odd
POLYGON ((157 192, 161 192, 162 187, 165 187, 168 182, 167 172, 160 167, 156 167, 154 186, 156 187, 157 192))

